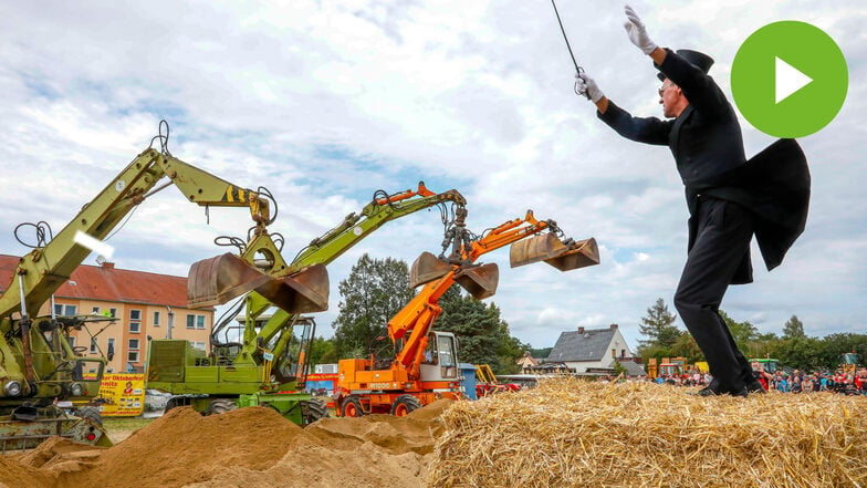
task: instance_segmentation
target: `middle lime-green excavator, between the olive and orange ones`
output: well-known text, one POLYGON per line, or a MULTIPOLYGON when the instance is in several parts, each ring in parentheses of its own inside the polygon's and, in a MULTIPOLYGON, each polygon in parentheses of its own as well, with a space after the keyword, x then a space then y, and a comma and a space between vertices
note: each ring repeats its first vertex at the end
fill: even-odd
MULTIPOLYGON (((391 195, 377 190, 358 214, 346 216, 336 227, 313 239, 274 276, 291 276, 312 266, 327 264, 388 221, 439 206, 446 222, 450 215, 457 214, 456 208, 464 205, 463 196, 457 190, 437 194, 424 181, 415 190, 391 195)), ((304 392, 315 321, 282 309, 270 314, 272 304, 269 297, 255 291, 248 293, 213 328, 210 353, 185 340, 152 340, 147 387, 174 394, 168 408, 192 405, 202 413, 219 413, 267 405, 300 425, 324 417, 326 404, 304 392), (234 318, 241 309, 246 312, 238 324, 234 318)))

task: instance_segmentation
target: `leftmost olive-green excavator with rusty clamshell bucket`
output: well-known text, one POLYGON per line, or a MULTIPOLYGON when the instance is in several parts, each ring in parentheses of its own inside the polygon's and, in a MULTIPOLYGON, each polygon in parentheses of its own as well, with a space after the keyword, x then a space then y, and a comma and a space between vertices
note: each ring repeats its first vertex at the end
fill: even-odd
MULTIPOLYGON (((84 418, 93 417, 93 408, 79 412, 83 416, 72 415, 75 404, 98 394, 105 359, 83 357, 81 350, 70 345, 71 331, 80 330, 83 320, 56 316, 54 307, 51 315, 39 313, 92 252, 94 242, 104 245, 101 241, 148 197, 175 185, 200 206, 247 207, 254 222, 253 237, 247 245, 249 255, 268 256, 275 249, 267 230, 273 221, 268 190, 238 187, 171 156, 165 121, 160 122, 159 135, 152 139, 152 146, 155 141, 159 141, 161 150, 148 147, 136 156, 56 236, 52 236, 45 222, 31 225, 38 236, 35 245, 30 246, 33 250, 20 259, 0 295, 0 449, 33 447, 52 435, 109 444, 98 418, 84 418), (164 177, 169 181, 155 188, 164 177)), ((15 237, 24 243, 18 235, 22 226, 15 229, 15 237)), ((323 277, 327 292, 323 269, 314 269, 313 274, 300 270, 279 280, 270 273, 273 269, 268 263, 224 255, 208 269, 198 270, 190 280, 188 294, 199 305, 216 304, 251 290, 290 298, 315 295, 310 289, 322 290, 323 277)), ((302 310, 318 310, 326 304, 327 300, 302 310)))

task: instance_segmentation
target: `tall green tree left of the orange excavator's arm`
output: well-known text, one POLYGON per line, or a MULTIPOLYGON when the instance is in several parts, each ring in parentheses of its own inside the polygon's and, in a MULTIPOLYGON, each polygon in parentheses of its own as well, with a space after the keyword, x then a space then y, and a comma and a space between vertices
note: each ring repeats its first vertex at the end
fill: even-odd
POLYGON ((393 356, 386 324, 412 299, 406 262, 372 259, 366 253, 340 283, 341 302, 334 328, 338 357, 393 356), (372 351, 372 349, 374 351, 372 351))

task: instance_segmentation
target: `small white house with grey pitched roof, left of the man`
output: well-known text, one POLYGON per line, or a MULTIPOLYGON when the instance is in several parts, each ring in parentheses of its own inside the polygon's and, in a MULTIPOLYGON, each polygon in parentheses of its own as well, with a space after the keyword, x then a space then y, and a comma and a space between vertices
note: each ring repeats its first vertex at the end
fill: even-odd
POLYGON ((645 374, 617 324, 607 329, 579 326, 576 331, 562 332, 547 356, 547 363, 563 364, 578 375, 613 372, 615 361, 626 367, 630 376, 645 374))

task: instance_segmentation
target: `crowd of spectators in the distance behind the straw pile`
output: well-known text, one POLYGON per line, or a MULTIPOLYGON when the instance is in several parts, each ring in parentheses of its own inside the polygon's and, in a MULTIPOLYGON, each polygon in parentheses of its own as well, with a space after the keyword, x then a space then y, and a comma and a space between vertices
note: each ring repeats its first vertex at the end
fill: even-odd
MULTIPOLYGON (((845 372, 839 368, 831 371, 792 372, 776 371, 769 373, 764 371, 761 363, 753 363, 753 376, 762 384, 765 391, 780 393, 816 393, 834 392, 847 395, 867 395, 867 367, 861 367, 855 373, 845 372)), ((712 376, 709 373, 701 373, 697 368, 690 370, 681 375, 662 375, 654 380, 659 384, 672 384, 680 386, 704 386, 710 384, 712 376)))

